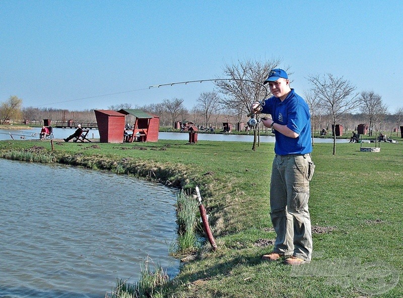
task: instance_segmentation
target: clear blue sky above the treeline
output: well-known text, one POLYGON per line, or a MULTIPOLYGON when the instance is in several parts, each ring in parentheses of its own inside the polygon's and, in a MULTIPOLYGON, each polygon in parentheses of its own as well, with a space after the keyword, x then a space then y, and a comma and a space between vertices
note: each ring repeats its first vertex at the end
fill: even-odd
POLYGON ((82 110, 183 98, 192 108, 223 66, 281 58, 344 77, 403 106, 402 1, 0 1, 0 102, 82 110), (127 92, 132 91, 132 92, 127 92), (119 93, 119 94, 114 94, 119 93), (107 96, 99 96, 114 94, 107 96))

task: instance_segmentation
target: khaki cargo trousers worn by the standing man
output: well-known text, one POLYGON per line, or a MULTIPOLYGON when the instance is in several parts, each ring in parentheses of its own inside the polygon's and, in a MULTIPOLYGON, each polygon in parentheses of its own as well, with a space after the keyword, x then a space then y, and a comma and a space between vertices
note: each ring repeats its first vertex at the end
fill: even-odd
POLYGON ((277 233, 274 252, 308 262, 312 256, 309 182, 314 169, 311 154, 276 154, 270 183, 270 215, 277 233))

